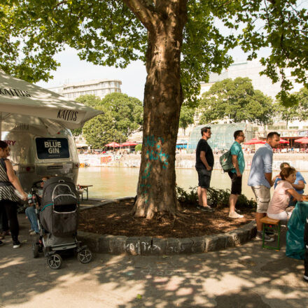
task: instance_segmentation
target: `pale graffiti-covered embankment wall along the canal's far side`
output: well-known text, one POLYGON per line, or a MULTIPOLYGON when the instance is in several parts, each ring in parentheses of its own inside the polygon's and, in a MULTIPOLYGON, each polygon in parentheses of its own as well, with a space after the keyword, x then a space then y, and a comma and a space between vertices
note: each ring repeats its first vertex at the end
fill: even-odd
MULTIPOLYGON (((214 155, 214 169, 221 169, 219 157, 214 155)), ((78 155, 82 167, 139 167, 141 155, 97 155, 97 154, 80 154, 78 155)), ((253 154, 244 155, 246 167, 250 170, 253 154)), ((298 171, 308 171, 308 154, 303 153, 274 153, 273 170, 278 171, 281 162, 289 162, 291 166, 298 171)), ((195 169, 195 154, 177 154, 176 168, 195 169)))

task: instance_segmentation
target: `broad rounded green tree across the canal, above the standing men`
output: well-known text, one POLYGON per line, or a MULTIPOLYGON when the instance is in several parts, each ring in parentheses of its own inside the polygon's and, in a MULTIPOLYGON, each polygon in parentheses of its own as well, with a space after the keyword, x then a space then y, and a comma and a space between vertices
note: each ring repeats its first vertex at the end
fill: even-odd
POLYGON ((268 124, 272 118, 272 99, 254 90, 249 78, 218 81, 202 97, 200 123, 210 123, 228 116, 236 123, 268 124))

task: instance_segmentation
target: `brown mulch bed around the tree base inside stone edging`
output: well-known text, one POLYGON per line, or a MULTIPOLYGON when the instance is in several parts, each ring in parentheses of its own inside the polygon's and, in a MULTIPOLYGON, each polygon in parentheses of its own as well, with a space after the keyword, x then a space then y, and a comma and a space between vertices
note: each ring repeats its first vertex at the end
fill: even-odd
POLYGON ((254 219, 253 209, 241 209, 244 218, 228 218, 228 207, 209 213, 182 204, 181 218, 161 216, 153 221, 130 214, 134 200, 121 200, 80 211, 78 230, 101 235, 200 237, 228 232, 254 219))

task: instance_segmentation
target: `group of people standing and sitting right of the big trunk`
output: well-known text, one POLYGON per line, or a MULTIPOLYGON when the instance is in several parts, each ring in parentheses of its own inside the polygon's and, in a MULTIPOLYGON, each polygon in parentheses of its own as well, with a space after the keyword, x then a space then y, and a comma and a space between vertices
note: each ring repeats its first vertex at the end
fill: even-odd
MULTIPOLYGON (((207 140, 211 138, 211 127, 203 127, 196 149, 195 168, 198 173, 198 205, 202 211, 212 212, 214 209, 207 202, 207 190, 211 183, 211 172, 214 167, 214 155, 207 140)), ((229 217, 243 218, 239 214, 235 205, 239 195, 241 195, 242 174, 245 169, 244 153, 241 144, 245 141, 242 130, 234 133, 235 141, 230 148, 232 157, 232 169, 228 171, 231 179, 231 194, 229 198, 229 217)), ((248 186, 251 186, 257 202, 255 221, 257 224, 257 239, 262 239, 262 222, 265 216, 287 221, 292 214, 291 207, 296 201, 303 201, 305 181, 300 172, 290 167, 288 162, 281 164, 281 172, 277 176, 272 176, 273 149, 279 146, 280 135, 278 132, 267 134, 266 143, 261 146, 253 155, 251 171, 248 177, 248 186), (270 188, 274 186, 274 194, 270 196, 270 188), (290 209, 290 210, 288 210, 290 209)), ((274 241, 274 238, 265 234, 265 241, 274 241)))

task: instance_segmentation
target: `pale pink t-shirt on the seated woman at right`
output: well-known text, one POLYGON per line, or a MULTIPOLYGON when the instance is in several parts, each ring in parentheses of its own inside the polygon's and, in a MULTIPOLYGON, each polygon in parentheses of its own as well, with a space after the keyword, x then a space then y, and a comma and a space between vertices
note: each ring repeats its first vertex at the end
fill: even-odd
POLYGON ((286 210, 290 202, 290 193, 288 189, 294 189, 288 181, 279 181, 277 184, 272 200, 269 202, 267 213, 279 214, 286 210))

